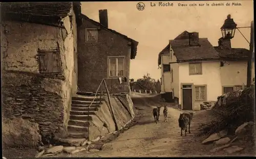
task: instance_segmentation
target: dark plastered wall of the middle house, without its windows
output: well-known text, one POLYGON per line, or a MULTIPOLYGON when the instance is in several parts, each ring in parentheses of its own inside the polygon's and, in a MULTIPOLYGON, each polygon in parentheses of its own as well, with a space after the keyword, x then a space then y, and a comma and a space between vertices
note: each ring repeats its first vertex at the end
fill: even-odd
POLYGON ((106 79, 113 93, 129 93, 131 46, 128 40, 108 30, 98 30, 98 42, 86 42, 86 28, 99 28, 90 20, 83 19, 78 27, 78 87, 81 91, 96 92, 100 81, 108 78, 108 56, 125 56, 124 76, 127 82, 118 84, 117 79, 106 79))

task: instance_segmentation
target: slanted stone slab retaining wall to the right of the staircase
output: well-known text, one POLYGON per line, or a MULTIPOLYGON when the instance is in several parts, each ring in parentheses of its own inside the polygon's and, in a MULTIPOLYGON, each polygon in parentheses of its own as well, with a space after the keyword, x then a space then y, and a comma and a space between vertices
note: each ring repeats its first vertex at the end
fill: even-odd
MULTIPOLYGON (((110 101, 118 128, 121 129, 135 117, 131 96, 127 94, 116 95, 111 97, 110 101)), ((90 140, 116 131, 108 99, 103 101, 100 109, 97 111, 96 115, 92 116, 92 119, 93 121, 90 122, 89 129, 90 140)))

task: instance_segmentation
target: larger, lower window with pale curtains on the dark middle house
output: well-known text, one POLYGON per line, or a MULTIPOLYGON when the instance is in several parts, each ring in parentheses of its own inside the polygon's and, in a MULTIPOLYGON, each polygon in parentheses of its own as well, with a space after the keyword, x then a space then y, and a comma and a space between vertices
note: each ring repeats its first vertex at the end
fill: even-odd
POLYGON ((109 77, 124 76, 124 57, 109 58, 109 77))

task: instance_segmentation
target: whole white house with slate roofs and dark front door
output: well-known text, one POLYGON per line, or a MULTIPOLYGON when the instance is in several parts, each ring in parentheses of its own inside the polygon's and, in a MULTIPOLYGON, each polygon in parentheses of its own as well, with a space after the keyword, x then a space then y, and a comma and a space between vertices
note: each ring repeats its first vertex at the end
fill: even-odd
POLYGON ((217 101, 246 85, 248 53, 231 48, 230 40, 220 38, 219 46, 213 47, 199 33, 184 31, 159 53, 161 93, 182 109, 200 110, 203 102, 217 101))

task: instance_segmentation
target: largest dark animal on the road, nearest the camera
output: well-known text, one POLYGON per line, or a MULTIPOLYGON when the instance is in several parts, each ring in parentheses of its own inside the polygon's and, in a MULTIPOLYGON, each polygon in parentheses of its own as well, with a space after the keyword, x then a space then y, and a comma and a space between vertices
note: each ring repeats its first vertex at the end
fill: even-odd
POLYGON ((193 112, 184 112, 180 114, 179 118, 179 127, 181 128, 181 136, 182 136, 182 130, 185 131, 185 136, 187 135, 187 127, 188 127, 188 133, 190 133, 190 123, 193 118, 193 112))

